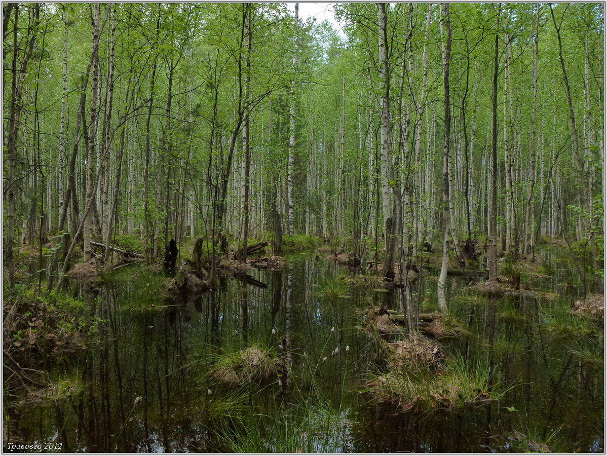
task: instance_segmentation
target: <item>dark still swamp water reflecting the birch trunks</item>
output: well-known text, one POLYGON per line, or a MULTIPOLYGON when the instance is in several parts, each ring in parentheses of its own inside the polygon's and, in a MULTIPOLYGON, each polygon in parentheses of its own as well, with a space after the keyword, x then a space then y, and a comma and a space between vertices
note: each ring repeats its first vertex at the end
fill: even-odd
MULTIPOLYGON (((45 366, 63 386, 50 397, 5 396, 5 437, 69 452, 603 452, 602 330, 569 313, 573 268, 542 255, 551 278, 528 283, 557 299, 489 299, 468 289, 474 279, 448 279, 467 332, 441 339, 444 351, 488 361, 500 400, 427 413, 374 403, 361 392, 381 372, 365 313, 381 302, 402 311, 400 291, 349 288, 346 268, 300 254, 288 270, 252 271, 265 288, 226 279, 178 308, 164 307, 153 274, 116 271, 84 296, 100 340, 45 366), (242 386, 211 375, 222 353, 250 346, 290 369, 242 386)), ((413 301, 414 315, 436 311, 436 277, 419 279, 413 301)))

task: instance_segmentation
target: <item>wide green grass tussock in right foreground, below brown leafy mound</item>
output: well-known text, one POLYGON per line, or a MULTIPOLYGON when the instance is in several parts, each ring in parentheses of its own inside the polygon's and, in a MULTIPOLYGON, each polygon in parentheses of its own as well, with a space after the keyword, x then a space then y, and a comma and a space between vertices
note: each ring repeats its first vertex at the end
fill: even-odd
POLYGON ((432 412, 481 406, 500 399, 509 389, 503 385, 492 386, 489 382, 491 371, 486 357, 467 361, 458 354, 445 360, 441 375, 413 375, 412 372, 392 370, 372 378, 366 391, 375 400, 404 410, 432 412))

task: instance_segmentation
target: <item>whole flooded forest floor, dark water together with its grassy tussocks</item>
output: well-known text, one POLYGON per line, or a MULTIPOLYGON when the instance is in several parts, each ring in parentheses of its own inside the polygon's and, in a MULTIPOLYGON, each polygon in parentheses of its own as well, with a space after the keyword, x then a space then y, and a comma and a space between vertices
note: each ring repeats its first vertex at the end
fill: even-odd
POLYGON ((404 288, 337 252, 264 258, 177 298, 138 263, 6 299, 5 449, 604 451, 603 297, 565 248, 503 262, 503 296, 453 268, 446 315, 430 254, 404 288))

